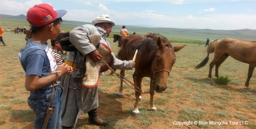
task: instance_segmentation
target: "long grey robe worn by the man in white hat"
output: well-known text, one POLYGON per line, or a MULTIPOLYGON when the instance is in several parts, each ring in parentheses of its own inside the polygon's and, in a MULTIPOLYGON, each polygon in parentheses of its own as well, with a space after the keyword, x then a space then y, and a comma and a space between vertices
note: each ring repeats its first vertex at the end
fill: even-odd
MULTIPOLYGON (((70 41, 72 44, 84 55, 89 56, 89 53, 96 50, 91 44, 86 35, 100 34, 100 42, 110 47, 109 42, 106 40, 106 31, 100 27, 93 25, 83 25, 74 28, 70 31, 70 41)), ((75 52, 70 52, 67 60, 73 62, 75 52)), ((113 68, 128 70, 133 68, 133 61, 118 60, 112 52, 114 57, 113 68)), ((75 63, 77 60, 75 60, 75 63)), ((73 71, 73 75, 76 74, 73 71)), ((99 107, 98 103, 98 86, 86 89, 81 86, 81 81, 72 81, 73 78, 66 75, 62 77, 63 85, 63 107, 62 107, 62 126, 75 127, 79 115, 89 112, 92 109, 99 107), (69 85, 70 82, 70 85, 69 85), (68 89, 69 88, 69 89, 68 89), (65 108, 66 107, 66 108, 65 108)))

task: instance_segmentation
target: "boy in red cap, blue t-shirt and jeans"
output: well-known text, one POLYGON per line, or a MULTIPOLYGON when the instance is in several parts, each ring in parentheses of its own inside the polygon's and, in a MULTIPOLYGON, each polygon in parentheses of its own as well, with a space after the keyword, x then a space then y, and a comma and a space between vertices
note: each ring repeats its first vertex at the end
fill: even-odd
POLYGON ((66 10, 55 11, 45 3, 35 5, 27 12, 33 36, 19 52, 19 58, 26 72, 25 88, 30 91, 28 105, 36 114, 36 129, 44 128, 44 121, 48 129, 61 128, 63 89, 57 79, 70 75, 73 69, 64 63, 57 67, 47 40, 57 38, 61 30, 61 17, 65 14, 66 10), (52 113, 46 117, 48 109, 52 109, 52 113))

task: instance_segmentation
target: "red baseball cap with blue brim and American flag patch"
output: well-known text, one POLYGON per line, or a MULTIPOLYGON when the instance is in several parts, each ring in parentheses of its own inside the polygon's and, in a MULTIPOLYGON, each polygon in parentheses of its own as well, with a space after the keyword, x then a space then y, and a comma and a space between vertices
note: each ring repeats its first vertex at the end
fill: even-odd
POLYGON ((65 14, 66 10, 55 10, 51 5, 42 3, 28 10, 27 20, 32 23, 33 27, 41 27, 65 14))

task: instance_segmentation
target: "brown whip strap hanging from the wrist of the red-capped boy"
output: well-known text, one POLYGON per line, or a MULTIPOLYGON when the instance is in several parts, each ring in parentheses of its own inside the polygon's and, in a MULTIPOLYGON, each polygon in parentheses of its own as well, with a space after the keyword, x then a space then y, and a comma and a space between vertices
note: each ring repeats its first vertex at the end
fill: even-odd
MULTIPOLYGON (((58 77, 60 76, 61 73, 62 73, 62 72, 60 72, 60 71, 54 71, 54 72, 52 72, 52 74, 55 74, 55 75, 56 75, 57 79, 58 79, 58 77)), ((56 79, 56 80, 57 80, 57 79, 56 79)), ((49 118, 50 118, 50 115, 52 114, 53 90, 54 90, 54 81, 52 82, 52 96, 51 96, 51 99, 50 99, 50 103, 49 103, 48 109, 47 109, 47 111, 46 111, 46 116, 45 116, 45 119, 44 119, 44 124, 43 124, 42 129, 45 129, 45 128, 46 128, 47 123, 48 123, 49 118), (50 107, 50 105, 51 105, 51 107, 50 107)))

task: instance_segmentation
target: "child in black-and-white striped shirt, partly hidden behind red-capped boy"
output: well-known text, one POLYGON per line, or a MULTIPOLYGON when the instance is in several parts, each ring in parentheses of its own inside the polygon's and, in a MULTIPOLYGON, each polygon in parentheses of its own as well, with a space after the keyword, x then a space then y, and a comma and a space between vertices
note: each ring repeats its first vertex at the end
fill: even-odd
POLYGON ((55 40, 51 40, 52 45, 52 52, 56 61, 57 66, 62 64, 62 56, 59 51, 63 52, 62 47, 60 46, 60 39, 63 39, 65 37, 58 35, 55 40))

